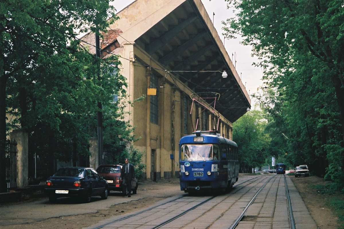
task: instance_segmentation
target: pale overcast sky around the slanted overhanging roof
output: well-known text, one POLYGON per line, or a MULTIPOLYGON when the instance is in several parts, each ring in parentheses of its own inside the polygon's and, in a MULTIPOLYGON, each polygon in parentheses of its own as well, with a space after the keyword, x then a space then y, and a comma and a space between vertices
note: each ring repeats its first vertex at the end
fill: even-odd
MULTIPOLYGON (((254 108, 255 101, 252 99, 251 94, 257 92, 257 88, 261 86, 262 83, 262 70, 260 68, 252 66, 253 62, 257 62, 256 57, 251 57, 251 47, 241 45, 241 37, 236 39, 224 39, 222 35, 222 21, 227 18, 234 16, 232 9, 227 9, 226 2, 224 0, 201 0, 209 18, 214 23, 214 26, 222 38, 224 46, 228 53, 228 56, 232 59, 235 68, 241 77, 241 81, 246 87, 247 93, 251 98, 251 108, 254 108), (215 15, 213 15, 215 13, 215 15), (236 61, 236 62, 235 62, 236 61)), ((116 8, 117 12, 125 8, 127 5, 132 3, 133 0, 112 0, 112 5, 116 8)))

